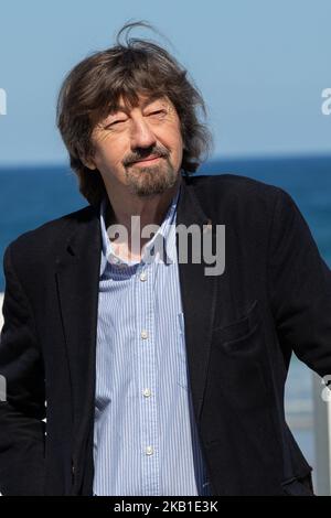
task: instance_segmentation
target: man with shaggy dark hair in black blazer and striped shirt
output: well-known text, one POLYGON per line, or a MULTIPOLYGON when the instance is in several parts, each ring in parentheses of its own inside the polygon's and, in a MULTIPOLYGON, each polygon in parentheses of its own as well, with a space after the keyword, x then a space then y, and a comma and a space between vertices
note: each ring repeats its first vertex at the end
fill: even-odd
POLYGON ((313 493, 284 386, 292 352, 331 371, 331 273, 286 192, 191 174, 209 144, 199 108, 142 40, 65 79, 58 128, 89 204, 4 253, 4 495, 313 493), (206 274, 194 247, 181 260, 174 223, 225 268, 206 274))

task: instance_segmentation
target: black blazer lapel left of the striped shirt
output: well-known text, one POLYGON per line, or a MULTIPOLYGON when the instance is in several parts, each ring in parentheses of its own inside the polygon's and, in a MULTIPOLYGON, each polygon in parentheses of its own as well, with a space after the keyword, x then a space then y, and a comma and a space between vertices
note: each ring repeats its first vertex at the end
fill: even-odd
POLYGON ((72 385, 74 466, 78 464, 94 417, 100 250, 98 208, 89 206, 79 220, 75 220, 65 249, 56 258, 58 302, 72 385))

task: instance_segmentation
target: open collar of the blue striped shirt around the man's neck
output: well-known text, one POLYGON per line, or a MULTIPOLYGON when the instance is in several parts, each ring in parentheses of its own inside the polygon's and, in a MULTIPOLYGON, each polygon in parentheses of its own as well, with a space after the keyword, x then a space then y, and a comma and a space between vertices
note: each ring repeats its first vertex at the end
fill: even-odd
MULTIPOLYGON (((145 246, 145 251, 141 260, 146 261, 148 259, 149 261, 152 260, 154 256, 150 255, 150 251, 152 247, 156 245, 156 250, 158 249, 158 246, 161 246, 161 250, 164 251, 166 257, 162 259, 168 263, 168 262, 173 262, 173 237, 171 238, 170 241, 170 229, 171 226, 174 224, 175 220, 175 215, 177 215, 177 205, 178 205, 178 199, 180 195, 180 190, 181 190, 181 184, 179 185, 179 188, 177 190, 171 204, 168 208, 168 212, 164 216, 164 219, 161 224, 161 226, 158 228, 158 231, 153 235, 153 237, 147 242, 145 246)), ((99 274, 103 276, 107 263, 109 262, 110 265, 114 266, 126 266, 126 267, 131 267, 135 265, 139 265, 139 261, 125 261, 121 258, 119 258, 116 253, 113 251, 111 247, 111 241, 107 235, 107 229, 106 229, 106 208, 108 205, 109 201, 108 197, 105 196, 102 199, 100 203, 100 211, 99 211, 99 219, 100 219, 100 230, 102 230, 102 261, 100 261, 100 272, 99 274)))

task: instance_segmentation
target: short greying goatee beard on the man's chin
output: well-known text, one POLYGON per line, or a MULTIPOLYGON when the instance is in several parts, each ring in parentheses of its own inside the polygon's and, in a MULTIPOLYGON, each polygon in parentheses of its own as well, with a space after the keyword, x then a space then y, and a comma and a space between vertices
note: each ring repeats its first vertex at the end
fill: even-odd
POLYGON ((135 164, 131 164, 126 169, 126 175, 131 194, 141 197, 162 194, 171 188, 178 180, 178 172, 168 159, 162 164, 147 165, 146 168, 135 168, 135 164))

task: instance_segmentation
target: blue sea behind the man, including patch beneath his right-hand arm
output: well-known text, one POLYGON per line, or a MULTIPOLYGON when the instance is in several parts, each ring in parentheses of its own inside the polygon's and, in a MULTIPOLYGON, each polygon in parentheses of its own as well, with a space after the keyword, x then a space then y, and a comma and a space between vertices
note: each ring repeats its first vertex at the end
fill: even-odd
MULTIPOLYGON (((331 154, 211 160, 195 174, 232 173, 286 190, 306 218, 331 268, 331 154)), ((0 256, 22 233, 87 205, 66 164, 0 166, 0 256)), ((0 292, 4 290, 0 271, 0 292)), ((287 421, 310 465, 316 467, 312 373, 292 357, 286 386, 287 421)))

